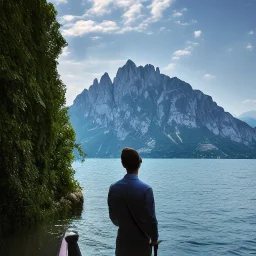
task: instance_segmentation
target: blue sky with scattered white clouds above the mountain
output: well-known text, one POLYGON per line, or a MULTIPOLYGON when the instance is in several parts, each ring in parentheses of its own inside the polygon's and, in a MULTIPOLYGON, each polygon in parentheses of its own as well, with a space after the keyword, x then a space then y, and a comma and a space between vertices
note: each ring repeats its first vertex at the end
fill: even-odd
POLYGON ((68 42, 67 105, 128 59, 152 64, 237 116, 256 109, 255 0, 49 0, 68 42))

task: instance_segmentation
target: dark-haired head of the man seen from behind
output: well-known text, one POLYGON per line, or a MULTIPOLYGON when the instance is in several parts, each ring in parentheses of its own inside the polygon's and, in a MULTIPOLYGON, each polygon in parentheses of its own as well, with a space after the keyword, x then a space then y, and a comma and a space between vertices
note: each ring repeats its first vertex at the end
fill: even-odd
POLYGON ((138 152, 133 148, 124 148, 121 153, 121 160, 127 173, 138 171, 142 163, 138 152))

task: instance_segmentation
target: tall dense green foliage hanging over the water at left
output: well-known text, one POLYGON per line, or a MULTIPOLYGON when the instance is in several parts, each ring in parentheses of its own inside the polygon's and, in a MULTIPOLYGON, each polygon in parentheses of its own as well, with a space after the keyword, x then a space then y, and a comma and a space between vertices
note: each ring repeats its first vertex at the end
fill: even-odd
POLYGON ((46 0, 0 0, 0 234, 44 218, 79 189, 56 14, 46 0))

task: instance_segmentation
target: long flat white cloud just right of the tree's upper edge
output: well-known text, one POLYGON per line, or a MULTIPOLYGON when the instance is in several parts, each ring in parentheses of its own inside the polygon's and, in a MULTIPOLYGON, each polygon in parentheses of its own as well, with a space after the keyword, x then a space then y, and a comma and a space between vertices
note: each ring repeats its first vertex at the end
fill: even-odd
POLYGON ((114 21, 104 20, 97 23, 92 20, 80 20, 72 25, 69 29, 63 30, 64 36, 82 36, 89 33, 114 33, 119 30, 114 21))

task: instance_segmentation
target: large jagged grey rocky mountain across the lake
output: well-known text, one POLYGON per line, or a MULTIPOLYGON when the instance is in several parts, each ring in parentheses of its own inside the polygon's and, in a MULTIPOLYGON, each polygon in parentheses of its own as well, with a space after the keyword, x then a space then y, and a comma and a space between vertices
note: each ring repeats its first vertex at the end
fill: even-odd
POLYGON ((152 65, 128 60, 113 82, 105 73, 69 113, 88 157, 119 157, 128 146, 143 157, 256 158, 256 129, 152 65))

